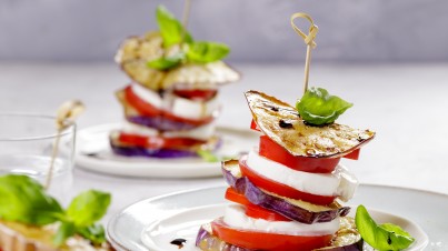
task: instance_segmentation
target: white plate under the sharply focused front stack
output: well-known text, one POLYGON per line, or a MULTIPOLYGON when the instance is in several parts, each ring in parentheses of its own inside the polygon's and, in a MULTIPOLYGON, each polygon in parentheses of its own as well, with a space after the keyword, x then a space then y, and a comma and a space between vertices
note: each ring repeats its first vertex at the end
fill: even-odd
MULTIPOLYGON (((222 215, 222 204, 226 203, 225 190, 226 187, 199 189, 137 202, 112 217, 107 229, 108 239, 117 250, 146 251, 149 250, 146 244, 151 244, 151 242, 159 250, 168 251, 170 248, 178 250, 176 245, 165 245, 165 243, 169 243, 168 240, 180 235, 191 238, 193 229, 197 229, 196 225, 222 215), (213 209, 217 210, 216 213, 212 212, 213 209), (170 230, 161 232, 160 235, 155 234, 152 239, 147 238, 147 243, 143 244, 141 233, 148 227, 158 224, 163 224, 170 230), (181 229, 188 231, 179 233, 181 229)), ((419 225, 429 238, 426 250, 448 250, 448 218, 446 217, 448 195, 404 188, 362 184, 350 204, 365 204, 369 210, 380 210, 372 213, 379 222, 391 221, 414 234, 418 234, 415 248, 420 244, 425 245, 425 234, 420 234, 419 225)), ((192 241, 189 241, 181 250, 188 250, 187 248, 191 248, 191 243, 192 241)))

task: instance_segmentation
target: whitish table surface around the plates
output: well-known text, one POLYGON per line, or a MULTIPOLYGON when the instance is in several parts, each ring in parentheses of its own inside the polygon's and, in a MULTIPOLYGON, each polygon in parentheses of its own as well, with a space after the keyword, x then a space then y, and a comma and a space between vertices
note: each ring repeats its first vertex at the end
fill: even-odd
MULTIPOLYGON (((242 92, 257 89, 285 101, 301 96, 302 66, 236 64, 243 79, 221 91, 220 126, 248 128, 242 92)), ((72 98, 88 107, 79 129, 122 120, 113 91, 129 80, 112 63, 0 63, 0 112, 53 113, 72 98)), ((369 128, 376 139, 358 161, 342 162, 364 183, 399 185, 448 193, 448 64, 320 64, 311 86, 355 103, 339 123, 369 128)), ((163 193, 223 184, 211 179, 132 179, 74 169, 72 193, 90 188, 110 191, 107 219, 139 200, 163 193)))

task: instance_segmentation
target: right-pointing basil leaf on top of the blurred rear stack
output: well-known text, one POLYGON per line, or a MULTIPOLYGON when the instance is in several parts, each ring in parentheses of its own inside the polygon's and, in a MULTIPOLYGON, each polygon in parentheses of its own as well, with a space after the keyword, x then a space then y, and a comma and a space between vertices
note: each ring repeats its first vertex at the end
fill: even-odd
POLYGON ((189 46, 187 58, 191 62, 208 63, 218 61, 229 54, 230 48, 217 42, 193 42, 189 46))

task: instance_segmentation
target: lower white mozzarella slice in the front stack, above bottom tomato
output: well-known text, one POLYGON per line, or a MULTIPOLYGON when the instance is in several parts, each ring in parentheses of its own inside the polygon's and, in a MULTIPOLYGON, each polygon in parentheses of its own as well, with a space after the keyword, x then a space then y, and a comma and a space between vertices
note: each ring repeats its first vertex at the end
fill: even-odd
POLYGON ((288 235, 325 235, 333 234, 339 229, 339 218, 329 222, 305 224, 297 221, 267 221, 246 215, 245 207, 231 204, 226 208, 223 221, 235 228, 258 232, 281 233, 288 235))

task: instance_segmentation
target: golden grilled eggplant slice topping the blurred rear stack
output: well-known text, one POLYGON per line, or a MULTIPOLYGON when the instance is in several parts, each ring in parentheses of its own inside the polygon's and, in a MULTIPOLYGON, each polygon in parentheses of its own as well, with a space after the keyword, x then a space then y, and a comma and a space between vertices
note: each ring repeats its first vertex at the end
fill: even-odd
POLYGON ((173 54, 179 50, 178 44, 169 49, 163 48, 160 33, 149 32, 145 37, 131 37, 125 40, 116 54, 116 61, 133 81, 156 91, 178 86, 210 89, 240 79, 240 74, 222 61, 183 63, 167 71, 147 66, 148 61, 173 54))

